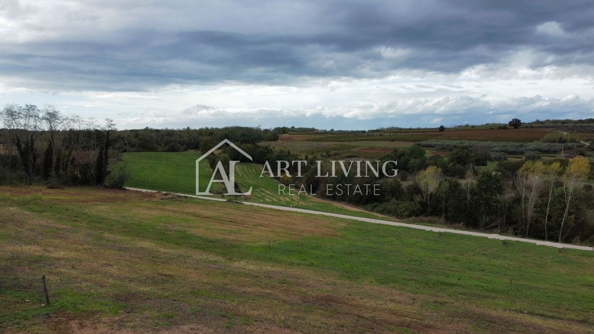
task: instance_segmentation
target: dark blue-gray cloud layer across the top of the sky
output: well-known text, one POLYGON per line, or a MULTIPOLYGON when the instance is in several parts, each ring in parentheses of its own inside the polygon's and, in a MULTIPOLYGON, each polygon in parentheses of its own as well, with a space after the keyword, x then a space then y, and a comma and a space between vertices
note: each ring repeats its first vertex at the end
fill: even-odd
POLYGON ((592 17, 592 1, 8 0, 0 76, 31 89, 146 91, 481 64, 497 73, 517 52, 535 55, 529 68, 594 66, 592 17))

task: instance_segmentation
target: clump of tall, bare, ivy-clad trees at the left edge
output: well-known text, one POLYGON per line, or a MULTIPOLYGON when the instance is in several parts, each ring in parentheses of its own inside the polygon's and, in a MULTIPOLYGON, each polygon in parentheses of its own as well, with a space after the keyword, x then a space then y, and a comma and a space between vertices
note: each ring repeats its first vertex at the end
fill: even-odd
POLYGON ((0 183, 45 179, 52 184, 104 185, 112 119, 65 116, 53 106, 5 106, 0 112, 0 183))

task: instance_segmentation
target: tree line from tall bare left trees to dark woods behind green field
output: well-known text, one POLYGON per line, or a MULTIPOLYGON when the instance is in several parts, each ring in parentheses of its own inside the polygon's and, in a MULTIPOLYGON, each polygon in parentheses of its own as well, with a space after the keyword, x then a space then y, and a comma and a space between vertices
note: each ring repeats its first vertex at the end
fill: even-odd
MULTIPOLYGON (((53 106, 8 104, 0 111, 0 184, 43 180, 50 185, 121 187, 127 177, 121 153, 206 152, 225 138, 253 147, 263 140, 277 140, 291 130, 188 127, 118 131, 112 119, 68 116, 53 106)), ((257 156, 261 160, 269 154, 266 151, 257 156)))

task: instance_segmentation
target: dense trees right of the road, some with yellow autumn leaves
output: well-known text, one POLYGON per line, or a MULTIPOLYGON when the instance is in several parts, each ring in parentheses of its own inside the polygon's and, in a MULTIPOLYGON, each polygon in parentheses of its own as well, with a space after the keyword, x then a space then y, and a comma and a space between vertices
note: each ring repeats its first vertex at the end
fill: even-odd
MULTIPOLYGON (((318 196, 397 218, 432 217, 471 229, 594 243, 594 225, 589 221, 594 193, 587 182, 592 178, 592 164, 587 157, 503 161, 494 171, 476 171, 475 166, 485 165, 484 153, 466 149, 456 149, 448 157, 427 157, 425 153, 421 147, 412 146, 394 149, 381 157, 381 162, 397 160, 396 178, 316 178, 317 170, 308 167, 303 178, 279 181, 304 184, 318 196), (328 184, 361 188, 364 184, 380 184, 381 192, 380 196, 327 196, 328 184)), ((313 162, 317 158, 309 159, 313 162)))

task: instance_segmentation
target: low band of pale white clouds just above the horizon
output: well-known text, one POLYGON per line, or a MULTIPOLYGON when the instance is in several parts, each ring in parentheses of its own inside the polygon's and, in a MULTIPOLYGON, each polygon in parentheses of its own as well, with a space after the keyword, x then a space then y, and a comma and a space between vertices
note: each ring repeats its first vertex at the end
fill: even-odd
POLYGON ((124 126, 142 124, 151 127, 185 127, 188 125, 261 125, 279 124, 317 128, 366 129, 374 127, 432 127, 435 124, 482 124, 507 122, 512 117, 524 120, 586 118, 594 111, 594 98, 570 95, 563 99, 546 99, 536 95, 490 101, 467 95, 443 96, 436 99, 399 99, 387 103, 364 103, 342 107, 289 108, 216 108, 195 105, 178 113, 160 112, 142 118, 120 119, 124 126))

